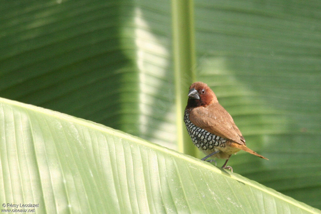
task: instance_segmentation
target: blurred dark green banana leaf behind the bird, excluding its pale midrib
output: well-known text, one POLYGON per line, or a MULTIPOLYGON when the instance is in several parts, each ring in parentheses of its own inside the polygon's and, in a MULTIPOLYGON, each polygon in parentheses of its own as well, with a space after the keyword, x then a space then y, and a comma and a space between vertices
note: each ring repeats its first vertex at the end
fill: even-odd
MULTIPOLYGON (((193 5, 195 81, 270 159, 239 152, 229 164, 320 209, 321 3, 193 5)), ((177 150, 175 30, 170 1, 1 1, 0 96, 177 150)))

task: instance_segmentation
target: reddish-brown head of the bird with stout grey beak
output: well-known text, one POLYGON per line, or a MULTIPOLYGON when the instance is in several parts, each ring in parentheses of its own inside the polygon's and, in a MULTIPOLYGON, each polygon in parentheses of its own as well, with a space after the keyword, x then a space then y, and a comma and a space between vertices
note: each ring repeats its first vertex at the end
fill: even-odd
POLYGON ((212 103, 216 103, 217 98, 204 82, 194 82, 188 91, 187 108, 208 106, 212 103))

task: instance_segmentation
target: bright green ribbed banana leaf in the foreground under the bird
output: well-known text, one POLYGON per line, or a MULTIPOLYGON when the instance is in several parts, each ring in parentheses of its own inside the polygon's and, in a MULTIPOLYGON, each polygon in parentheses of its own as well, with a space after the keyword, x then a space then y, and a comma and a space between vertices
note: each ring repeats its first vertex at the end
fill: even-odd
POLYGON ((37 213, 321 213, 91 121, 4 98, 0 118, 1 211, 13 203, 37 213))

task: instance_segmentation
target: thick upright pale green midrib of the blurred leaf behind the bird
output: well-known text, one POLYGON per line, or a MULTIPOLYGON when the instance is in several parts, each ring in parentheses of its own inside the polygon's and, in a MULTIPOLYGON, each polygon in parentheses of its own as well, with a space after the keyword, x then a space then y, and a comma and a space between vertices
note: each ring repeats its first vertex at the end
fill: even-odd
POLYGON ((173 56, 176 91, 178 150, 195 156, 183 121, 187 89, 195 81, 195 37, 193 1, 172 0, 173 56), (184 74, 184 76, 182 75, 184 74))

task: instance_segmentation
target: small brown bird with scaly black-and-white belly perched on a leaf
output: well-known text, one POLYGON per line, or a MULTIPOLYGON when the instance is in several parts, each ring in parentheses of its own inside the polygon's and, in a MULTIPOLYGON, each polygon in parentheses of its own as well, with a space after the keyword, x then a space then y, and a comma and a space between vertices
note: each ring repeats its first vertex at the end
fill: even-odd
POLYGON ((226 164, 231 155, 240 150, 267 159, 247 148, 232 116, 219 104, 213 90, 204 82, 194 82, 189 87, 184 122, 194 145, 206 155, 201 160, 216 163, 213 159, 207 159, 226 159, 222 168, 230 169, 233 173, 233 168, 226 164))

